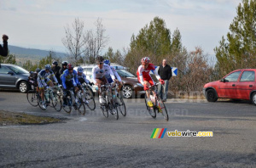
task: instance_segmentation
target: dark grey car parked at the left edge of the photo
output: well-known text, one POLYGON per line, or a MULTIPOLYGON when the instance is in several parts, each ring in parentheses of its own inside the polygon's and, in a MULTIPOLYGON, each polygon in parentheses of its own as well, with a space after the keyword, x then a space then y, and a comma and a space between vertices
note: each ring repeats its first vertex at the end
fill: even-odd
POLYGON ((20 92, 27 92, 29 75, 27 70, 15 64, 1 64, 0 88, 15 88, 20 92))

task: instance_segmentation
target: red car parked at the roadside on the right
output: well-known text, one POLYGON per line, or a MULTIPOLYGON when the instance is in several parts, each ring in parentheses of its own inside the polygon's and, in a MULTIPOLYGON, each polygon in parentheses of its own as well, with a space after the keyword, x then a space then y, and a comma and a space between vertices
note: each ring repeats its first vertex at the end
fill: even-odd
POLYGON ((203 92, 208 102, 218 98, 251 100, 256 105, 256 69, 234 70, 220 81, 207 83, 203 92))

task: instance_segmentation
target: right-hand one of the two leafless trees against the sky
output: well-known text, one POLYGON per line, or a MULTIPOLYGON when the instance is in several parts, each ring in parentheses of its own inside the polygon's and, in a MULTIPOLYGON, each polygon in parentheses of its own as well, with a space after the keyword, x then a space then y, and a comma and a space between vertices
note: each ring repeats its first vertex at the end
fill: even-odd
POLYGON ((90 30, 84 35, 84 56, 90 64, 95 63, 96 57, 108 44, 109 37, 105 35, 106 29, 102 25, 102 19, 96 20, 96 31, 90 30))

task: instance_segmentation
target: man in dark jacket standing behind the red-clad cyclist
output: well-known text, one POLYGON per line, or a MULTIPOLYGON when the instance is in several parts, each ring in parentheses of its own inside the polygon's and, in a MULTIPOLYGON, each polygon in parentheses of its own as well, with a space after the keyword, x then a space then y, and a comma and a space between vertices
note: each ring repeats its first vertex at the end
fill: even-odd
POLYGON ((172 68, 170 65, 166 64, 166 59, 163 59, 163 63, 159 67, 158 74, 160 78, 165 81, 164 85, 159 85, 159 94, 163 102, 166 102, 169 80, 172 77, 172 68))

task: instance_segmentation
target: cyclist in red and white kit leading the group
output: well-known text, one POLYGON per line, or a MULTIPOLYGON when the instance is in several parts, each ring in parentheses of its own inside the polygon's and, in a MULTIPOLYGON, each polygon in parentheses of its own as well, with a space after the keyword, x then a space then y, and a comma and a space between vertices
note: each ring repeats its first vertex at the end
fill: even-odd
MULTIPOLYGON (((150 99, 150 92, 148 91, 148 89, 149 89, 148 87, 154 85, 154 81, 151 78, 151 76, 149 75, 150 70, 154 73, 155 77, 160 81, 160 83, 162 85, 165 84, 165 81, 160 79, 160 76, 155 71, 154 64, 150 64, 149 61, 150 61, 150 59, 148 57, 144 57, 141 60, 142 64, 137 69, 137 79, 144 86, 144 90, 146 91, 147 98, 148 98, 148 100, 147 100, 148 106, 153 107, 152 101, 150 99)), ((154 94, 154 98, 155 98, 156 92, 153 92, 153 94, 154 94)))

